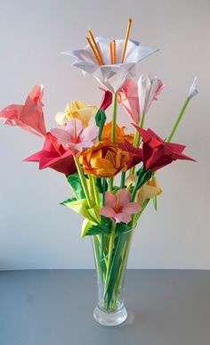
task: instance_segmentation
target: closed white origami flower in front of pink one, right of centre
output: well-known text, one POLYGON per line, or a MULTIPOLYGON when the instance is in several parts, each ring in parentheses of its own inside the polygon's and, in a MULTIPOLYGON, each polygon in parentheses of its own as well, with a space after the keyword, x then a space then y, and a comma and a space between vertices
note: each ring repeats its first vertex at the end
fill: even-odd
POLYGON ((150 76, 141 77, 138 80, 139 102, 141 116, 146 114, 152 101, 157 100, 158 94, 161 93, 164 86, 157 77, 150 78, 150 76))

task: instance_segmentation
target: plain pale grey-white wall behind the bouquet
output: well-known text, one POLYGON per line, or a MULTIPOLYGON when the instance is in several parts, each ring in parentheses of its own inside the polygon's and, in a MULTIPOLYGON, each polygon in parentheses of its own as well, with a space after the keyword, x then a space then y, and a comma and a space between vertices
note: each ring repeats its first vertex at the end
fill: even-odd
MULTIPOLYGON (((166 136, 194 76, 199 79, 199 95, 174 138, 198 163, 179 161, 158 172, 164 193, 158 212, 149 205, 141 218, 129 267, 209 269, 208 0, 1 0, 0 107, 22 103, 35 84, 45 87, 48 128, 71 100, 99 105, 97 82, 60 52, 85 45, 89 27, 95 35, 123 37, 128 17, 131 37, 160 49, 138 67, 139 75, 156 74, 166 85, 147 126, 166 136)), ((122 109, 118 117, 129 126, 122 109)), ((80 240, 82 219, 59 205, 70 196, 65 179, 21 162, 41 146, 41 139, 19 128, 0 128, 0 269, 93 267, 90 239, 80 240)))

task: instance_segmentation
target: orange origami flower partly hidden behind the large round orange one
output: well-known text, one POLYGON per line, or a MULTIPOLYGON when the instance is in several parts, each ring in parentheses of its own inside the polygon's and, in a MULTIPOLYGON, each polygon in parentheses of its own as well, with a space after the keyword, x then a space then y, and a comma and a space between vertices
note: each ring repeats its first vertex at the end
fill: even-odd
MULTIPOLYGON (((109 140, 111 141, 111 127, 112 127, 112 121, 108 122, 102 130, 102 136, 101 140, 109 140)), ((133 144, 133 134, 125 134, 125 126, 119 127, 116 124, 116 143, 124 143, 125 140, 129 143, 133 144)))

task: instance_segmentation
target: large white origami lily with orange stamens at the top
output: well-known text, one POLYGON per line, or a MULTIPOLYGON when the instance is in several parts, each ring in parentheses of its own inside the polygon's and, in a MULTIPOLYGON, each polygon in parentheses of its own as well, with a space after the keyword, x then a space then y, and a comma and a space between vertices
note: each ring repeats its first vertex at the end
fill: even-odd
POLYGON ((85 48, 63 53, 76 57, 73 66, 92 74, 109 91, 117 93, 127 78, 135 77, 136 63, 158 51, 128 39, 131 23, 130 19, 125 39, 94 38, 89 29, 90 38, 86 37, 88 45, 85 48))

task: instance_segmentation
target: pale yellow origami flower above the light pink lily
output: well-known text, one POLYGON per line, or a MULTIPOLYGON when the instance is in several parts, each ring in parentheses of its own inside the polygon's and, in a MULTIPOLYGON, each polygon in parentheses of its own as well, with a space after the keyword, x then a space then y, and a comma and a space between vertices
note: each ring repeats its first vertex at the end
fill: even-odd
POLYGON ((94 105, 88 105, 82 101, 73 101, 67 104, 65 111, 57 112, 55 120, 59 125, 66 126, 69 120, 80 119, 83 123, 83 127, 87 127, 96 111, 97 107, 94 105))

